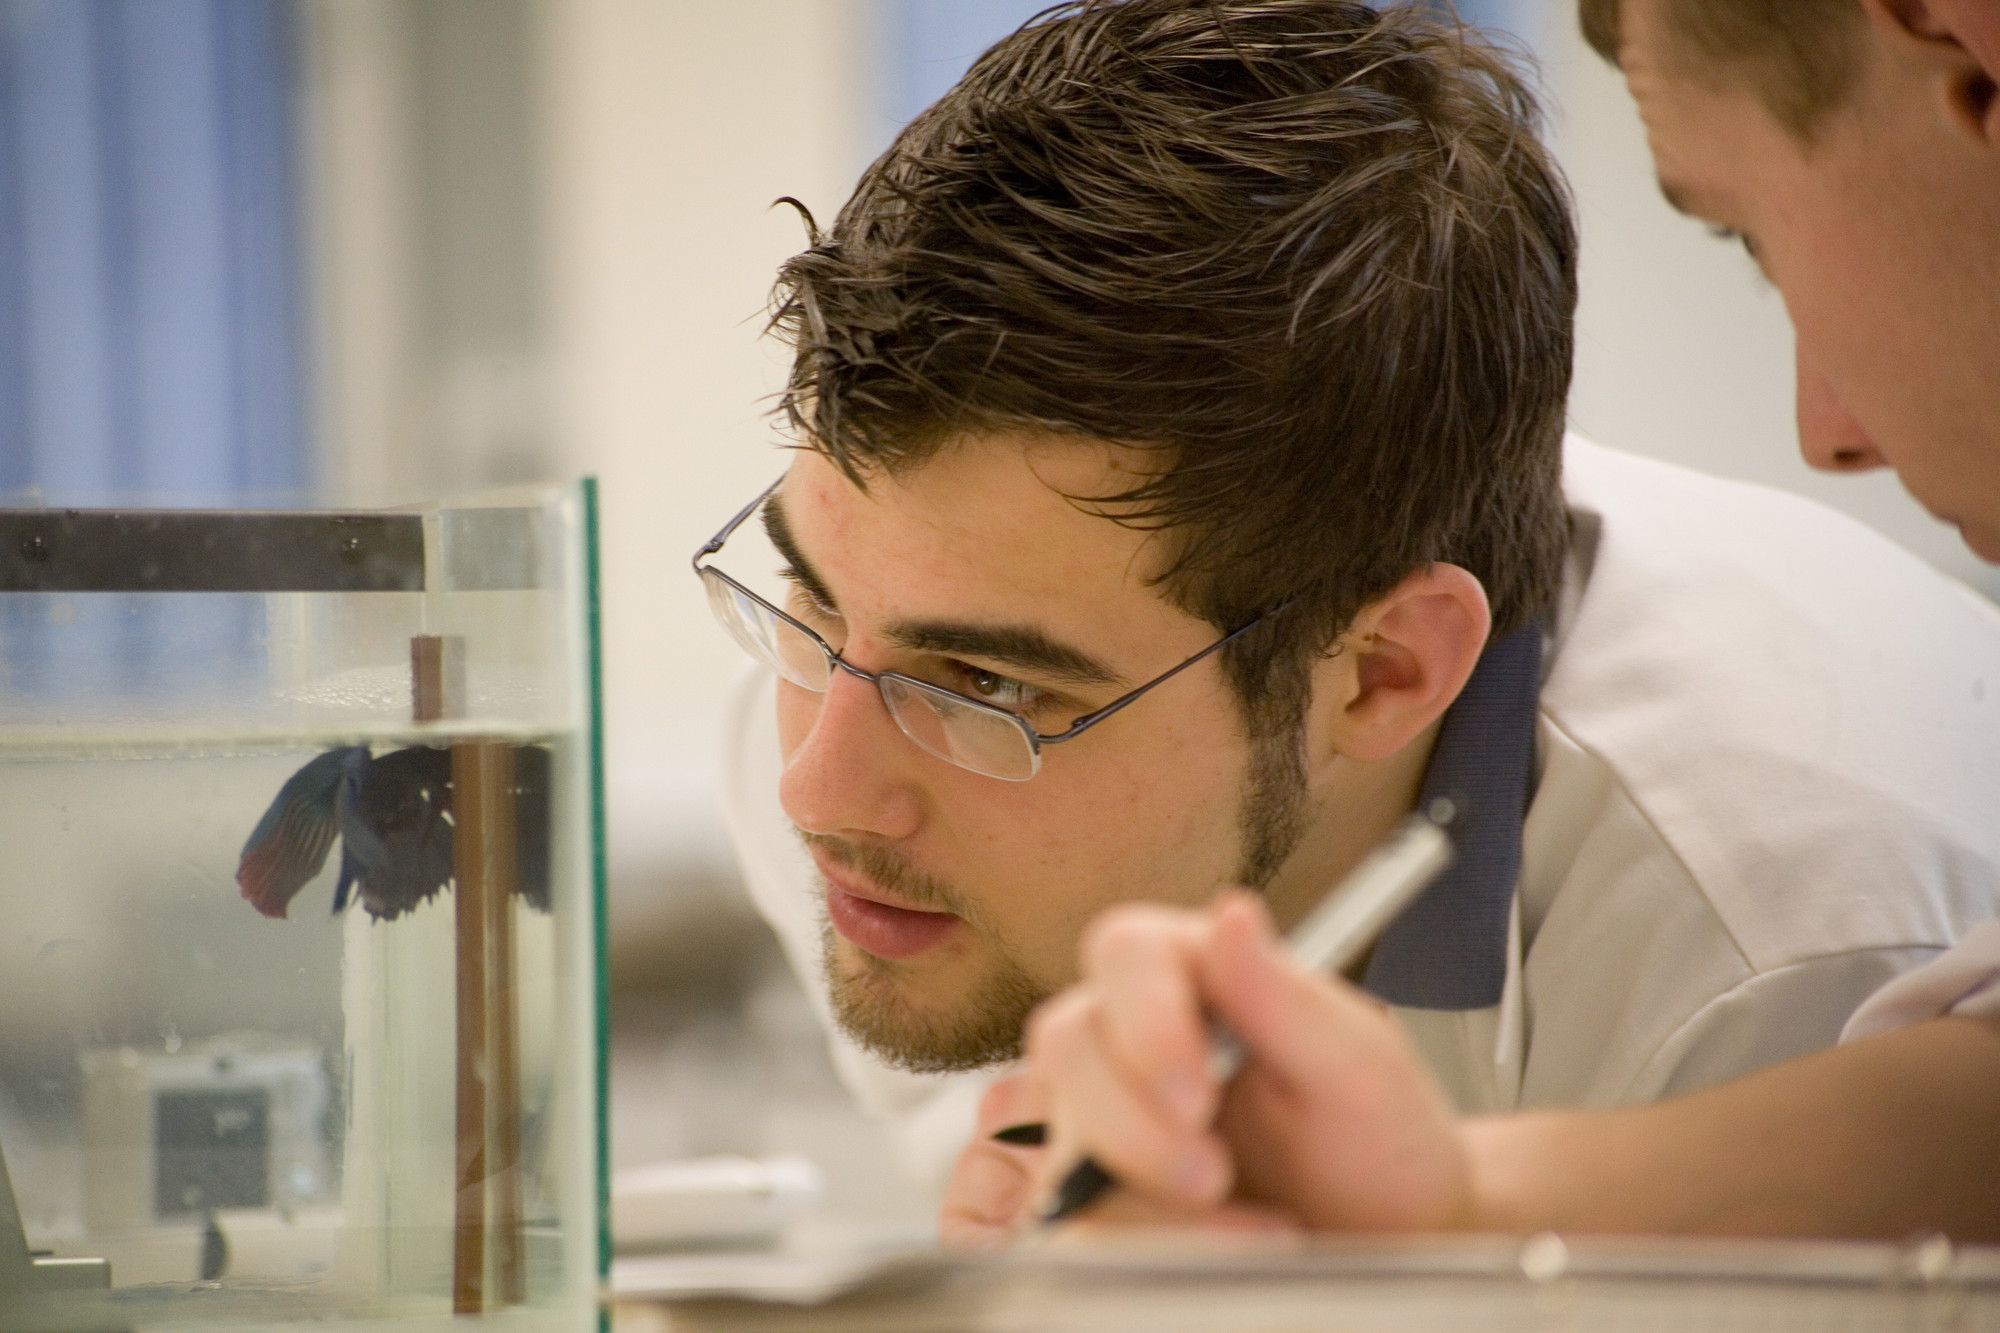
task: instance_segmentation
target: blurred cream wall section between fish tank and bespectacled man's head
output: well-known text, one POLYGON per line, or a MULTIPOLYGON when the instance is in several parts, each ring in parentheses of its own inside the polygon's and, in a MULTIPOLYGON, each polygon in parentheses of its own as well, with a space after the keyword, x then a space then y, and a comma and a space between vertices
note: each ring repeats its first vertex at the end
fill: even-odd
POLYGON ((860 6, 560 0, 544 8, 554 436, 604 496, 612 873, 620 929, 670 881, 726 877, 716 719, 742 652, 688 556, 780 470, 762 338, 792 194, 830 220, 858 174, 860 6))

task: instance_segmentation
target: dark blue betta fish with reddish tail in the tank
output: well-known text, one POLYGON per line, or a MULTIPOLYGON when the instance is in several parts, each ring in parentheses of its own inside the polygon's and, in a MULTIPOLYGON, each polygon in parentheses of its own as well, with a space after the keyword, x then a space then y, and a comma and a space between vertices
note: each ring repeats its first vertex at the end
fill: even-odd
MULTIPOLYGON (((548 911, 548 771, 542 747, 514 749, 516 885, 548 911)), ((244 843, 236 883, 266 917, 284 917, 340 837, 334 913, 358 899, 394 921, 452 881, 452 753, 430 747, 376 759, 366 745, 314 757, 286 779, 244 843)))

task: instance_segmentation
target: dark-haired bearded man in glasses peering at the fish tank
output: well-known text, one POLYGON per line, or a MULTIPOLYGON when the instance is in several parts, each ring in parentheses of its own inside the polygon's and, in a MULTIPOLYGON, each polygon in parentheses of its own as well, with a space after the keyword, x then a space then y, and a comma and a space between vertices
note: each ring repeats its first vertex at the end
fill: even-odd
POLYGON ((696 568, 776 675, 746 879, 872 1105, 956 1147, 1106 907, 1284 927, 1430 793, 1458 863, 1360 979, 1464 1109, 1826 1045, 1992 913, 2000 620, 1564 448, 1572 306, 1528 94, 1416 6, 1072 6, 868 170, 780 278, 802 448, 696 568))

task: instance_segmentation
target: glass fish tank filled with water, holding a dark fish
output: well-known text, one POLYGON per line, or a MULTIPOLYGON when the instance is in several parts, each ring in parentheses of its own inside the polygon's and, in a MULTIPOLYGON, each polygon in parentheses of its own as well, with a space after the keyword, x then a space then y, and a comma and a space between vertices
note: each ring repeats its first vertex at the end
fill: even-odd
POLYGON ((594 526, 0 510, 0 1333, 598 1327, 594 526))

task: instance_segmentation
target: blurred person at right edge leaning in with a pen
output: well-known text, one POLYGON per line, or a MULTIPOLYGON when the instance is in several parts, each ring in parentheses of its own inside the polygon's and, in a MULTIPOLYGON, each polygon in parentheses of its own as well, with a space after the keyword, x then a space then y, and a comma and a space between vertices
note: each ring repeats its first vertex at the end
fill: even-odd
MULTIPOLYGON (((2000 4, 1580 12, 1666 198, 1784 294, 1806 458, 1894 466, 2000 560, 2000 4)), ((1962 664, 1992 711, 2000 658, 1962 664)), ((2000 823, 2000 787, 1980 799, 2000 823)), ((1126 1185, 1106 1219, 2000 1239, 1994 921, 1870 997, 1834 1051, 1650 1107, 1478 1119, 1454 1117, 1368 997, 1294 969, 1242 895, 1110 913, 1082 971, 988 1097, 988 1125, 1046 1117, 1054 1147, 968 1151, 948 1233, 1020 1227, 1088 1151, 1126 1185), (1250 1049, 1226 1091, 1204 1073, 1204 1015, 1250 1049)))

